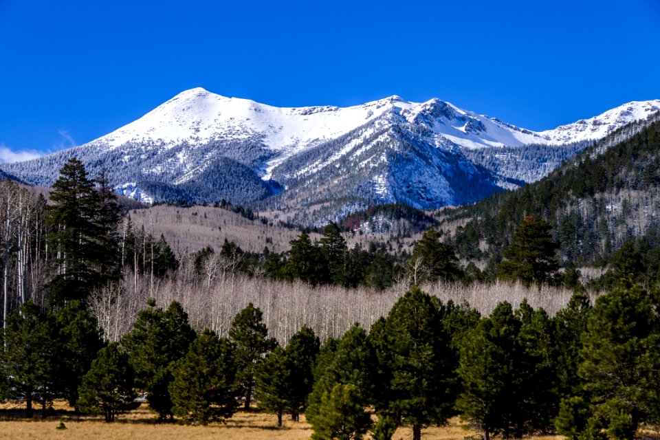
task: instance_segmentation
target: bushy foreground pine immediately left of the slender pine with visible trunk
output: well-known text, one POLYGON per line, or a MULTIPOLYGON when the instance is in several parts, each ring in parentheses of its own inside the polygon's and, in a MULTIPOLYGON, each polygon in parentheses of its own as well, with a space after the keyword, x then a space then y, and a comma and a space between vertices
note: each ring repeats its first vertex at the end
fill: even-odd
POLYGON ((172 412, 183 423, 222 421, 238 406, 234 346, 209 329, 192 341, 184 359, 173 368, 169 385, 172 412))

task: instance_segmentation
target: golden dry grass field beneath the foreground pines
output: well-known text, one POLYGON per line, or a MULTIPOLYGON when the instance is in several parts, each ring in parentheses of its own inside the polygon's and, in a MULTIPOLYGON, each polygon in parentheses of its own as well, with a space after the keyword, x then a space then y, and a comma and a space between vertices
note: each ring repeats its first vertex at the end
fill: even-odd
MULTIPOLYGON (((129 414, 120 415, 114 423, 105 423, 100 417, 78 417, 63 404, 56 404, 55 415, 45 420, 35 412, 32 421, 22 417, 24 408, 17 405, 0 405, 0 439, 3 440, 307 440, 311 428, 305 423, 284 420, 277 428, 276 417, 259 412, 237 412, 226 423, 210 426, 180 426, 157 423, 153 412, 142 406, 129 414), (65 423, 65 430, 56 427, 65 423)), ((448 426, 431 427, 422 431, 426 440, 463 440, 476 432, 466 430, 459 420, 452 419, 448 426)), ((394 440, 412 437, 409 428, 399 428, 394 440)), ((561 437, 537 437, 535 440, 559 440, 561 437)))

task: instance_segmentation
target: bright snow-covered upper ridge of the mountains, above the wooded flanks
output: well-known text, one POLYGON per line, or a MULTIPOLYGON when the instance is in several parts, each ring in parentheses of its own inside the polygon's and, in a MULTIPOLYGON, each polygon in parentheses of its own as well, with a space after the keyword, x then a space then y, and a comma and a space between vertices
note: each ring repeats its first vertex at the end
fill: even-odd
POLYGON ((461 146, 519 146, 598 140, 629 122, 659 111, 660 100, 628 102, 588 120, 534 132, 459 109, 438 98, 416 103, 390 96, 353 107, 272 107, 197 87, 181 92, 142 118, 91 143, 117 148, 145 139, 170 144, 263 133, 266 144, 275 150, 297 152, 309 142, 346 133, 388 110, 399 111, 408 122, 426 124, 434 133, 461 146))

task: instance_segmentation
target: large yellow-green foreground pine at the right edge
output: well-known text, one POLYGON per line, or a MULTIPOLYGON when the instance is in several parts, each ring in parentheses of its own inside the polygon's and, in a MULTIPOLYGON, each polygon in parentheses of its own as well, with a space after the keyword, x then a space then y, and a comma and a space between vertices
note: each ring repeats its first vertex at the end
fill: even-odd
POLYGON ((595 417, 608 436, 630 440, 639 424, 657 418, 660 368, 657 300, 641 287, 600 296, 589 316, 579 374, 595 417))

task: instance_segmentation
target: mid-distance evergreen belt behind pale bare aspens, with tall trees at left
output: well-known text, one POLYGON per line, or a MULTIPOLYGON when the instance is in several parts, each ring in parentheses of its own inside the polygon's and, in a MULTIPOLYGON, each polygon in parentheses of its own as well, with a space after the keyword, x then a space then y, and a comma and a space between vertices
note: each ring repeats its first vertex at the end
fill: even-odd
MULTIPOLYGON (((118 205, 104 173, 96 179, 70 159, 53 186, 50 200, 11 182, 2 184, 0 230, 3 243, 3 322, 13 309, 32 299, 40 307, 61 307, 69 300, 85 301, 111 283, 133 286, 148 281, 153 295, 160 279, 171 276, 188 256, 176 255, 164 236, 135 228, 118 205), (130 273, 129 273, 130 272, 130 273)), ((222 204, 219 204, 222 206, 222 204)), ((225 208, 231 208, 225 203, 225 208)), ((252 212, 248 212, 252 214, 252 212)), ((147 227, 148 229, 148 227, 147 227)), ((193 254, 197 276, 208 285, 217 272, 267 276, 276 281, 310 285, 367 287, 384 290, 401 281, 425 282, 521 280, 527 285, 551 283, 573 287, 579 273, 566 267, 559 274, 551 228, 538 216, 523 219, 503 251, 480 269, 461 267, 459 248, 441 231, 430 228, 412 252, 394 256, 390 244, 349 249, 340 227, 329 222, 318 241, 305 231, 287 252, 244 252, 232 242, 219 252, 207 247, 193 254)))

